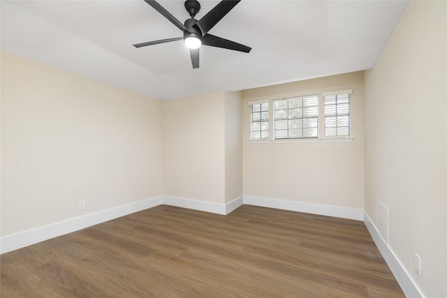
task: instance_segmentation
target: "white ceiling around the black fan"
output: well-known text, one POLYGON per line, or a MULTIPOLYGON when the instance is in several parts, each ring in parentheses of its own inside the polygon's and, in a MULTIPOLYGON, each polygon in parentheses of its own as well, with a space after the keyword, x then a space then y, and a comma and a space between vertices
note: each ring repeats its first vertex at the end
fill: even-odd
MULTIPOLYGON (((184 1, 159 1, 180 22, 184 1)), ((200 20, 219 1, 203 0, 200 20)), ((253 50, 200 48, 142 0, 1 1, 1 48, 160 100, 372 68, 408 1, 242 0, 210 33, 253 50)))

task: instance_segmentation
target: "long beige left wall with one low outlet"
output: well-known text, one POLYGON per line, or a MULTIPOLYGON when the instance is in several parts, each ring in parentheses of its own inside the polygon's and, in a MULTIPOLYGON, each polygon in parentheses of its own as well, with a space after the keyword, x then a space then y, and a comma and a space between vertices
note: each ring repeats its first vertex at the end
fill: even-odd
POLYGON ((159 101, 1 52, 1 236, 161 195, 160 172, 159 101))

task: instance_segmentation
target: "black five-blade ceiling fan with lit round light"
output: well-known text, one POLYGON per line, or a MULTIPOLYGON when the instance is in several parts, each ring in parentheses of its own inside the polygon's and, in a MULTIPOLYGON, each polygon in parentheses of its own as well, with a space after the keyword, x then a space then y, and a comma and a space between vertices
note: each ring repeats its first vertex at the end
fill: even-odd
POLYGON ((210 45, 212 47, 222 47, 223 49, 235 50, 240 52, 248 53, 251 47, 247 45, 241 45, 240 43, 235 43, 234 41, 221 38, 209 34, 208 31, 214 27, 221 19, 224 17, 233 7, 236 6, 240 0, 228 1, 223 0, 214 6, 210 12, 203 16, 200 20, 194 19, 198 11, 200 10, 200 3, 196 0, 186 0, 184 2, 184 7, 186 11, 191 16, 190 19, 186 20, 184 24, 179 22, 173 15, 171 15, 168 10, 163 8, 158 2, 154 0, 145 0, 147 4, 152 6, 156 11, 161 13, 163 17, 170 20, 177 28, 183 31, 183 37, 168 38, 161 40, 148 41, 146 43, 137 43, 133 45, 134 47, 145 47, 147 45, 157 45, 159 43, 170 43, 171 41, 184 40, 186 47, 189 47, 189 53, 191 54, 191 61, 193 68, 198 68, 199 61, 199 48, 200 45, 210 45))

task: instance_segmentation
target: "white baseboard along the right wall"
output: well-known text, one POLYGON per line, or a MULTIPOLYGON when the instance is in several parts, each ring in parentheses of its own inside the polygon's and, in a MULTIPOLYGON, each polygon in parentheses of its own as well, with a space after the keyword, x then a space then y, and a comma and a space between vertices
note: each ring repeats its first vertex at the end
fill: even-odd
POLYGON ((371 221, 371 218, 369 218, 368 214, 365 211, 363 218, 369 234, 371 234, 374 243, 376 244, 377 248, 379 248, 383 259, 385 259, 386 264, 388 265, 388 267, 390 267, 397 280, 397 283, 399 283, 400 288, 402 288, 406 297, 425 298, 416 283, 414 283, 408 271, 406 271, 405 267, 400 262, 399 258, 397 258, 390 246, 386 244, 386 241, 383 240, 379 233, 379 230, 377 230, 376 226, 371 221))

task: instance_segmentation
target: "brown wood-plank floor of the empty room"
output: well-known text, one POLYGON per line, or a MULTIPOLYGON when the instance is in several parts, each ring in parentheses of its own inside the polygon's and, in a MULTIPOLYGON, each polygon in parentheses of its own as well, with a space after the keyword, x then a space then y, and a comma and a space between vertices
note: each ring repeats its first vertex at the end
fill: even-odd
POLYGON ((365 225, 159 206, 1 255, 1 297, 404 297, 365 225))

